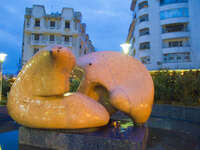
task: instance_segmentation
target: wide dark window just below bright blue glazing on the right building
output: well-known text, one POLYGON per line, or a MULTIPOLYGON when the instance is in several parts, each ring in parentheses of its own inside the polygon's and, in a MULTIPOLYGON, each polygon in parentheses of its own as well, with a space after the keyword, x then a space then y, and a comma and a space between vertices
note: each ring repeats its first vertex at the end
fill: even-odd
POLYGON ((169 24, 162 26, 162 32, 163 33, 169 33, 169 32, 187 32, 188 31, 188 25, 187 24, 169 24))

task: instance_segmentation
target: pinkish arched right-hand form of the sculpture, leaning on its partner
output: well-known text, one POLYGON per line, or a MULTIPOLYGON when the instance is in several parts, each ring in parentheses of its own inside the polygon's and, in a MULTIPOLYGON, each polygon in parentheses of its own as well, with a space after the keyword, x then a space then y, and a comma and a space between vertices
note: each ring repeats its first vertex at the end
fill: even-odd
POLYGON ((100 101, 108 111, 118 109, 130 115, 138 124, 147 121, 153 105, 154 85, 143 64, 131 56, 109 51, 80 57, 77 64, 85 70, 81 93, 100 101), (102 98, 101 92, 105 91, 109 97, 102 98))

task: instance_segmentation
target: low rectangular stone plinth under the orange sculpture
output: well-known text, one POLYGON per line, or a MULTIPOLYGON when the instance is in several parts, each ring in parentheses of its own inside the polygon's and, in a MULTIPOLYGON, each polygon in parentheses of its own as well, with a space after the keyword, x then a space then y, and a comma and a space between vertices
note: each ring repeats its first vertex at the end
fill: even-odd
POLYGON ((147 128, 130 124, 125 123, 125 128, 109 125, 95 131, 75 132, 20 127, 19 144, 53 150, 130 150, 142 146, 147 133, 147 128))

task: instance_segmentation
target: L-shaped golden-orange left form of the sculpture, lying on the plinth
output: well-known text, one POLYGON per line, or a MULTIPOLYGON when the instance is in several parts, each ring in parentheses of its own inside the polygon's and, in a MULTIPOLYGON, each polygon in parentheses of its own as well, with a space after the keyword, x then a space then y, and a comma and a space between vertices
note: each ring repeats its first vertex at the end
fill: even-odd
POLYGON ((81 94, 66 94, 75 57, 64 47, 41 50, 23 67, 13 84, 8 111, 18 123, 33 128, 76 129, 106 125, 109 114, 81 94))

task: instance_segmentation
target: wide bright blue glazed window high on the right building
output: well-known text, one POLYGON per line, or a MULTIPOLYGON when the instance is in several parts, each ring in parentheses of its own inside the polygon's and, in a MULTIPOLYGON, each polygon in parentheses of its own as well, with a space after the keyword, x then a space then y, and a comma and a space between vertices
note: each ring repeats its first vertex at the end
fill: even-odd
POLYGON ((188 17, 188 8, 178 8, 178 9, 171 9, 165 10, 160 12, 160 19, 169 19, 169 18, 179 18, 179 17, 188 17))

